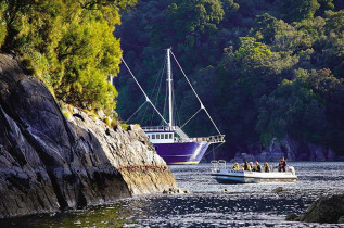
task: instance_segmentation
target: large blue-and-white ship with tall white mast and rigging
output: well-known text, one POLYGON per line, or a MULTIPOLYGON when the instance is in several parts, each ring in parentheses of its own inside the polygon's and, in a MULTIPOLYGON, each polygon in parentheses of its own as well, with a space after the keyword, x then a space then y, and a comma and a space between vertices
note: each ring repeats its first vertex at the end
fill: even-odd
MULTIPOLYGON (((143 126, 142 127, 144 132, 150 138, 150 141, 154 144, 154 148, 157 154, 162 156, 167 164, 174 164, 174 165, 199 164, 211 144, 217 143, 218 145, 221 145, 222 143, 225 143, 225 135, 220 134, 219 129, 217 128, 209 113, 203 105, 200 97, 195 92, 193 86, 191 85, 187 75, 182 71, 179 62, 177 61, 176 56, 171 52, 170 48, 167 49, 166 54, 167 54, 166 60, 167 60, 167 83, 168 83, 168 122, 164 118, 164 116, 158 112, 158 110, 152 103, 151 99, 146 96, 146 93, 140 86, 139 81, 137 80, 137 78, 135 77, 130 68, 128 67, 127 63, 124 61, 124 59, 122 59, 122 61, 145 97, 145 102, 143 104, 145 103, 151 104, 152 107, 155 110, 155 112, 158 114, 158 116, 163 121, 162 126, 143 126), (192 91, 194 92, 201 105, 200 110, 193 116, 191 116, 191 118, 187 123, 184 123, 181 127, 177 126, 174 123, 174 105, 173 105, 174 104, 174 92, 173 92, 174 88, 173 88, 170 55, 174 56, 177 65, 179 66, 181 73, 186 77, 188 84, 190 85, 192 91), (190 138, 182 130, 182 127, 186 124, 188 124, 202 110, 206 113, 206 115, 208 116, 213 125, 215 126, 218 135, 190 138)), ((143 104, 133 113, 133 115, 143 106, 143 104)))

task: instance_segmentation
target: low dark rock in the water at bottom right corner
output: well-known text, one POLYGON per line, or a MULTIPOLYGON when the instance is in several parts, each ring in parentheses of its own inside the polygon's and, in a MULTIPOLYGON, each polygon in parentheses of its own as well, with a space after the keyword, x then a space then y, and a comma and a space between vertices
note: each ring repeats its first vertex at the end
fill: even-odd
POLYGON ((286 220, 305 223, 336 224, 344 216, 344 194, 320 198, 314 202, 307 211, 301 215, 289 215, 286 220))

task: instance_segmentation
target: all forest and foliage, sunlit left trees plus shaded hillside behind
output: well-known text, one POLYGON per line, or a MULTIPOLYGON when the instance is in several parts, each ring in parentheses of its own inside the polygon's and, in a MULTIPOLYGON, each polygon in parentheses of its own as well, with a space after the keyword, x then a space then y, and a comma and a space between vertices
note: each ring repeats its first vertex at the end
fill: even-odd
MULTIPOLYGON (((226 135, 219 154, 262 151, 288 136, 343 156, 343 9, 342 0, 1 0, 0 48, 58 102, 125 123, 144 98, 120 58, 166 116, 170 47, 226 135)), ((200 104, 173 69, 182 124, 200 104)), ((143 111, 130 122, 161 124, 143 111)), ((215 134, 204 113, 184 130, 215 134)))

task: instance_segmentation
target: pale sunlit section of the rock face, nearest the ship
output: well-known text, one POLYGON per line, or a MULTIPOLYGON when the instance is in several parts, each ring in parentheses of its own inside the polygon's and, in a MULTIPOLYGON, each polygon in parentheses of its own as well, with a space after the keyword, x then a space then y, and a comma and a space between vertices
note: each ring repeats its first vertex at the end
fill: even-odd
POLYGON ((71 123, 86 141, 99 143, 110 163, 123 175, 130 193, 146 194, 177 188, 165 161, 156 154, 140 127, 130 125, 124 130, 117 126, 114 130, 77 109, 74 109, 71 123))

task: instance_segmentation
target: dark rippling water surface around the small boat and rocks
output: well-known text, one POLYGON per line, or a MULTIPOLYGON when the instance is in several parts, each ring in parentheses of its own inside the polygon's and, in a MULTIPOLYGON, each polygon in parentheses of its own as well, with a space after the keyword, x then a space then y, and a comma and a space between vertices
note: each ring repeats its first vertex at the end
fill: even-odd
POLYGON ((192 193, 124 199, 82 211, 0 220, 0 227, 344 227, 284 220, 319 197, 344 193, 344 162, 291 165, 297 182, 258 185, 219 185, 209 176, 211 164, 170 166, 178 186, 192 193), (277 187, 285 191, 273 193, 277 187))

